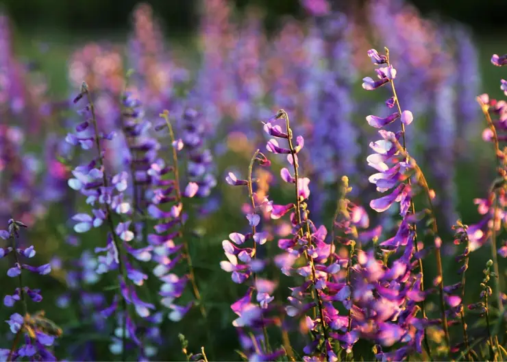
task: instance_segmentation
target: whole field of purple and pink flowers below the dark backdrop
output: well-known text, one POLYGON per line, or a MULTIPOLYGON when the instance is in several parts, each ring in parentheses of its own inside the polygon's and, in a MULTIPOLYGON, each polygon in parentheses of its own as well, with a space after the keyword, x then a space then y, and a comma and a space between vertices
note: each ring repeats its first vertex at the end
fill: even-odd
MULTIPOLYGON (((269 36, 261 12, 202 5, 197 67, 168 51, 148 4, 134 10, 127 47, 75 51, 75 124, 59 112, 71 102, 51 99, 42 73, 18 61, 0 15, 0 214, 10 219, 0 360, 183 352, 208 362, 205 347, 210 359, 245 361, 502 360, 507 106, 484 94, 474 110, 469 32, 404 0, 367 1, 360 19, 336 1, 301 0, 309 16, 269 36), (370 62, 369 92, 354 90, 370 62), (280 106, 295 122, 285 110, 271 117, 280 106), (467 225, 454 178, 458 161, 471 169, 462 150, 480 110, 496 165, 469 172, 491 182, 467 225), (243 175, 233 171, 247 158, 243 175), (216 187, 222 172, 233 187, 216 187), (48 264, 29 263, 43 250, 20 242, 25 226, 48 264), (40 275, 51 280, 35 287, 40 275), (51 304, 61 328, 45 316, 51 304)), ((507 55, 491 62, 504 67, 507 55)))

